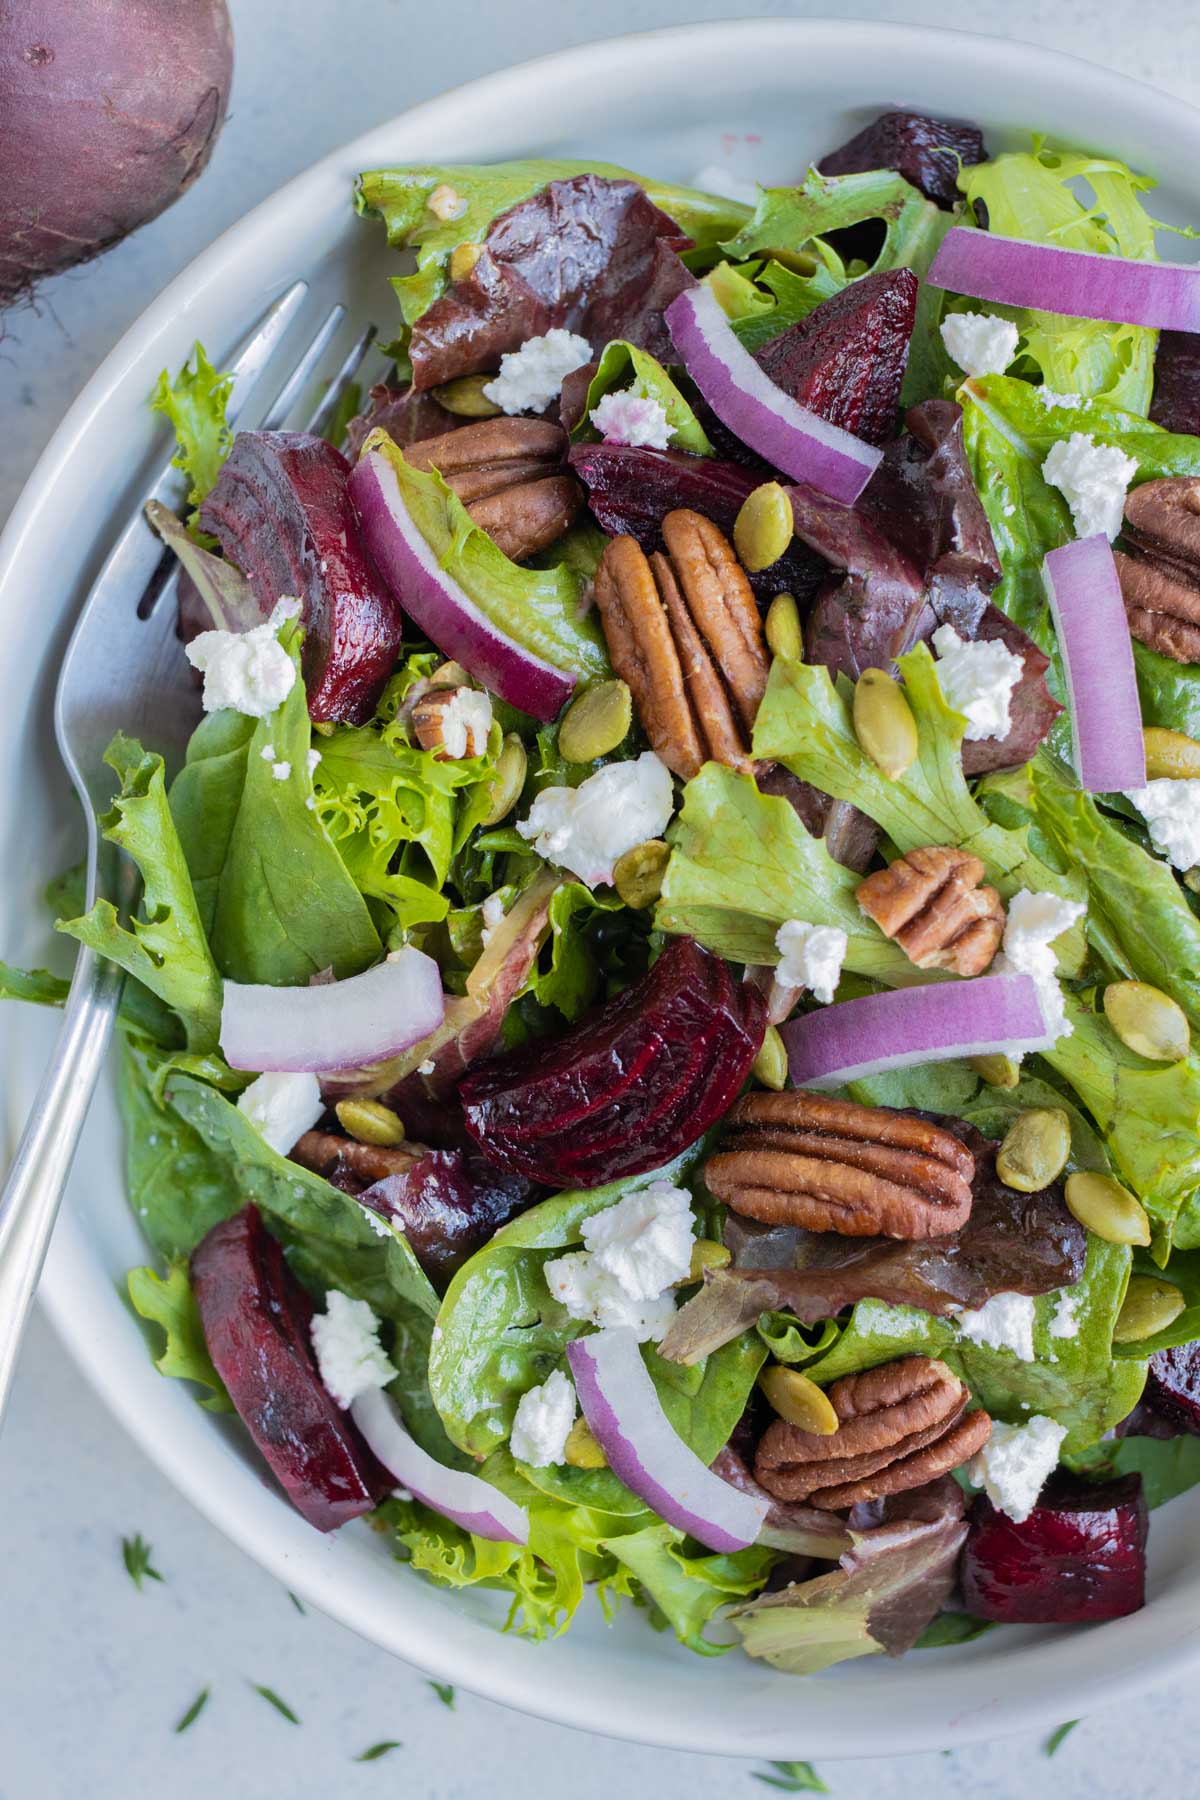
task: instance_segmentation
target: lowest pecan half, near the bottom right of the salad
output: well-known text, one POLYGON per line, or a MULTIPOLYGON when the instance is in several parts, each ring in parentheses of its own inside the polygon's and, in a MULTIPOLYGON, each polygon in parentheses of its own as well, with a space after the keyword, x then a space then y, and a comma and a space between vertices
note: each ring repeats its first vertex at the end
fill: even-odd
POLYGON ((754 1474, 775 1499, 824 1510, 903 1494, 948 1474, 988 1442, 988 1413, 968 1413, 970 1393, 927 1355, 844 1375, 829 1388, 838 1429, 829 1436, 777 1418, 757 1447, 754 1474))

